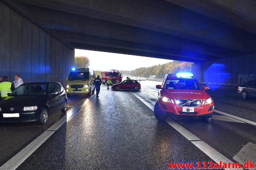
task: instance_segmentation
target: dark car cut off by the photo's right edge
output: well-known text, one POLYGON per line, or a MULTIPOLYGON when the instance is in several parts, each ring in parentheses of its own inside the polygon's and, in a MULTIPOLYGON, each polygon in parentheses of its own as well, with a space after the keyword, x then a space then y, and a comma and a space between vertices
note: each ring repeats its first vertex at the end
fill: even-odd
POLYGON ((244 83, 239 86, 237 92, 241 95, 243 99, 248 97, 256 97, 256 80, 244 83))

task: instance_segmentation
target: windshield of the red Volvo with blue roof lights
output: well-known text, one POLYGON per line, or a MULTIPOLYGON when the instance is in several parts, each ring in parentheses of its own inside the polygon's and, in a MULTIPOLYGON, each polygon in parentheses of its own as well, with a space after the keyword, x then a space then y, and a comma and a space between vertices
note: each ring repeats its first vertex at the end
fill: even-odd
POLYGON ((165 89, 188 89, 203 90, 198 81, 191 79, 171 79, 166 80, 165 89))

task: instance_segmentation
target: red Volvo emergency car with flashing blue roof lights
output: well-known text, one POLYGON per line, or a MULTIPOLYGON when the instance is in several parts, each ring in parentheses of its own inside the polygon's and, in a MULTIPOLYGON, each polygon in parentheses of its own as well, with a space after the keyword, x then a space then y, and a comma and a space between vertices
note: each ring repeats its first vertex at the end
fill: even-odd
POLYGON ((165 120, 168 114, 176 116, 202 117, 205 122, 212 120, 214 103, 211 96, 193 77, 193 74, 170 74, 162 85, 157 85, 158 102, 154 113, 158 120, 165 120))

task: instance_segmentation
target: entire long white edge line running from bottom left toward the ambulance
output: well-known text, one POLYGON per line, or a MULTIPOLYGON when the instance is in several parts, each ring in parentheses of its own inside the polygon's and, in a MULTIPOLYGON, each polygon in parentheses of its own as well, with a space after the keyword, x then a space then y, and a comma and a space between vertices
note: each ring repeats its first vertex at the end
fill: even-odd
MULTIPOLYGON (((92 95, 93 96, 93 95, 92 95)), ((92 97, 91 96, 91 97, 92 97)), ((89 98, 90 99, 90 98, 89 98)), ((42 133, 39 137, 29 143, 23 150, 8 160, 0 167, 0 170, 14 170, 20 166, 37 148, 39 148, 50 136, 58 130, 70 117, 73 116, 89 99, 82 100, 76 107, 67 112, 60 120, 54 123, 49 129, 42 133)))

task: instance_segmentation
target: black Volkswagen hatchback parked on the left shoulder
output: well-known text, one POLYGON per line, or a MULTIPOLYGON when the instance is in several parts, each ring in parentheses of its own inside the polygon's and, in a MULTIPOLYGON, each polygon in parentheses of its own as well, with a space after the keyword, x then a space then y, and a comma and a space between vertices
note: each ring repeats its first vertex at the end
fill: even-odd
POLYGON ((48 114, 67 111, 67 94, 58 82, 24 83, 0 101, 0 122, 39 121, 48 114))

